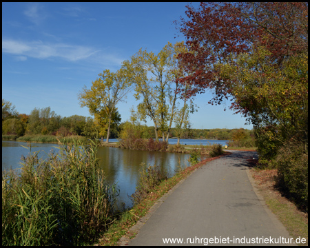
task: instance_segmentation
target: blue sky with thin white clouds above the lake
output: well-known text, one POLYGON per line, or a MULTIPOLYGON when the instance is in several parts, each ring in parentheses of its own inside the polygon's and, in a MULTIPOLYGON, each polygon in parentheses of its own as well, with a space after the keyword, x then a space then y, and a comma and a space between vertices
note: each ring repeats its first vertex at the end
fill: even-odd
MULTIPOLYGON (((61 116, 90 116, 77 98, 83 85, 90 88, 105 69, 115 72, 140 48, 158 53, 168 41, 182 41, 172 22, 185 17, 186 5, 2 3, 2 99, 24 114, 50 106, 61 116)), ((209 99, 211 92, 196 96, 193 128, 252 129, 240 114, 223 111, 230 102, 214 106, 209 99)), ((133 105, 130 95, 118 105, 122 121, 133 105)))

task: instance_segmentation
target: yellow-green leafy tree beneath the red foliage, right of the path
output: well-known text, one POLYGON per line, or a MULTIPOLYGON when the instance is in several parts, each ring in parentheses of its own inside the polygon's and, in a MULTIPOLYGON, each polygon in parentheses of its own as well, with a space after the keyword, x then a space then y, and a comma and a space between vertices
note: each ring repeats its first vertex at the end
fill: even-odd
POLYGON ((283 145, 294 136, 307 141, 308 57, 290 56, 279 68, 270 56, 265 48, 254 48, 252 54, 237 56, 235 65, 219 65, 218 70, 234 81, 236 103, 269 141, 283 145))

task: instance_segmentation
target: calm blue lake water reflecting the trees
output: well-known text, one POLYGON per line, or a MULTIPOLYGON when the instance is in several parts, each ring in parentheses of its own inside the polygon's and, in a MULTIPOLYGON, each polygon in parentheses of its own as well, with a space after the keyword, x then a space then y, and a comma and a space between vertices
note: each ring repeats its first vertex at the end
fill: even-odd
MULTIPOLYGON (((110 139, 110 142, 116 142, 110 139)), ((176 139, 169 139, 169 144, 176 144, 176 139), (175 142, 175 143, 174 143, 175 142)), ((225 145, 226 141, 210 140, 180 140, 185 145, 208 145, 209 143, 220 143, 225 145)), ((2 170, 18 169, 21 167, 21 156, 27 156, 29 150, 28 143, 18 141, 2 141, 2 170)), ((59 145, 49 143, 32 143, 32 152, 39 152, 39 158, 48 158, 52 149, 58 152, 59 145)), ((128 196, 135 192, 141 172, 141 163, 146 165, 158 165, 161 169, 167 169, 169 176, 174 176, 178 165, 189 166, 189 154, 175 154, 170 152, 147 152, 134 151, 130 149, 120 149, 114 147, 99 147, 97 157, 100 158, 99 166, 105 172, 107 183, 116 183, 120 189, 119 200, 128 207, 132 206, 132 201, 128 196)))

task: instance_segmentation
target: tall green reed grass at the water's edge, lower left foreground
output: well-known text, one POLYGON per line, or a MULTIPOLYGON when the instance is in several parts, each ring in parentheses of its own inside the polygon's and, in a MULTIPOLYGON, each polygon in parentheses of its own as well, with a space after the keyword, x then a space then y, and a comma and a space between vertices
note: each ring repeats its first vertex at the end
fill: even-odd
POLYGON ((97 145, 74 141, 58 154, 21 161, 2 172, 2 245, 82 245, 114 220, 118 189, 107 185, 97 145))

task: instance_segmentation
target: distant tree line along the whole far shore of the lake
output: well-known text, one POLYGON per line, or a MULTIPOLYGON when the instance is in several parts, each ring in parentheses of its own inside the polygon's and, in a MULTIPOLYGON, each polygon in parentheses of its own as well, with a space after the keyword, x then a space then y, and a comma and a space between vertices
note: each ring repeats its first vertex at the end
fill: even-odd
MULTIPOLYGON (((134 120, 134 116, 131 116, 134 120)), ((126 130, 138 130, 141 138, 156 138, 154 126, 141 125, 137 121, 125 121, 121 123, 121 115, 114 113, 112 125, 110 128, 110 138, 122 138, 126 130)), ((54 136, 86 136, 89 138, 100 137, 102 132, 100 123, 91 117, 72 115, 61 117, 51 110, 50 107, 41 109, 35 107, 30 114, 19 114, 14 105, 9 101, 2 99, 2 134, 14 134, 16 136, 41 134, 54 136)), ((178 129, 172 127, 169 132, 169 138, 178 136, 178 129)), ((200 138, 217 140, 238 140, 240 133, 244 136, 254 136, 252 130, 245 129, 196 129, 186 128, 180 138, 200 138), (239 134, 239 136, 238 136, 239 134)), ((106 133, 103 134, 103 137, 106 133)), ((158 136, 162 136, 161 130, 158 130, 158 136)), ((241 137, 242 138, 242 137, 241 137)))

